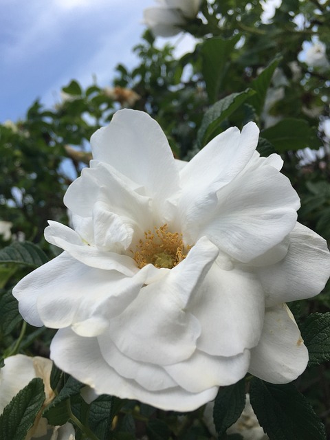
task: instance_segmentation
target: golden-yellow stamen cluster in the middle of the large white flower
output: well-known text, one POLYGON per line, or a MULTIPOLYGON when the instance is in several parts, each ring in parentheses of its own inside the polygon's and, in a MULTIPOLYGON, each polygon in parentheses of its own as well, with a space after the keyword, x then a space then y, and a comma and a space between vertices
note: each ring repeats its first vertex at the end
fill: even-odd
POLYGON ((150 230, 144 232, 144 240, 140 240, 135 253, 132 251, 140 269, 149 263, 172 269, 186 258, 191 246, 184 245, 182 234, 168 232, 167 229, 165 224, 160 228, 155 227, 155 233, 150 230))

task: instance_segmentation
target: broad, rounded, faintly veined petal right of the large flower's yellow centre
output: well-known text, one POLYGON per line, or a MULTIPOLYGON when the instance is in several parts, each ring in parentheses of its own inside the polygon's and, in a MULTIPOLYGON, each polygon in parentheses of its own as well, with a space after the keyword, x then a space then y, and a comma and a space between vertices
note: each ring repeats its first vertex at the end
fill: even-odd
POLYGON ((217 210, 199 234, 243 263, 281 243, 296 224, 298 195, 273 166, 244 170, 217 195, 217 210))

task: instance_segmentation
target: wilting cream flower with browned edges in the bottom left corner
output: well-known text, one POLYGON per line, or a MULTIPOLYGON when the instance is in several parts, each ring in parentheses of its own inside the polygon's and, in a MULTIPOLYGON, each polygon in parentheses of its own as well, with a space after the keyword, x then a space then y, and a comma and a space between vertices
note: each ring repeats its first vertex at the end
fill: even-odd
MULTIPOLYGON (((50 372, 53 362, 46 358, 34 358, 25 355, 14 355, 5 358, 5 366, 0 370, 0 414, 12 398, 19 393, 34 377, 40 377, 45 385, 45 402, 43 408, 50 404, 55 394, 50 387, 50 372)), ((49 426, 41 412, 34 421, 25 440, 74 440, 74 428, 70 423, 64 426, 49 426)))

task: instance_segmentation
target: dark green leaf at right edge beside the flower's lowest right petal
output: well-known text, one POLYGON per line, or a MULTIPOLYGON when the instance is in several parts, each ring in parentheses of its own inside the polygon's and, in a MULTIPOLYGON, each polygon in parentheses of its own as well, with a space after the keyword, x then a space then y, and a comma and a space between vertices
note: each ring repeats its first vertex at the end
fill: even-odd
POLYGON ((330 360, 330 312, 307 316, 300 331, 309 352, 309 365, 330 360))

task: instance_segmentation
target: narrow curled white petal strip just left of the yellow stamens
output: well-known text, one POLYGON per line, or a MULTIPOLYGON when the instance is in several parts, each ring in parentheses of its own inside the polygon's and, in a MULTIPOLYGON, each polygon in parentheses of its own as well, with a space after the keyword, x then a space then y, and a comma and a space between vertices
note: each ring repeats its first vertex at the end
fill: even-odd
POLYGON ((133 276, 138 270, 135 261, 126 255, 99 250, 96 245, 84 241, 74 230, 57 221, 49 221, 45 239, 58 248, 67 251, 74 259, 103 270, 115 270, 126 276, 133 276))

